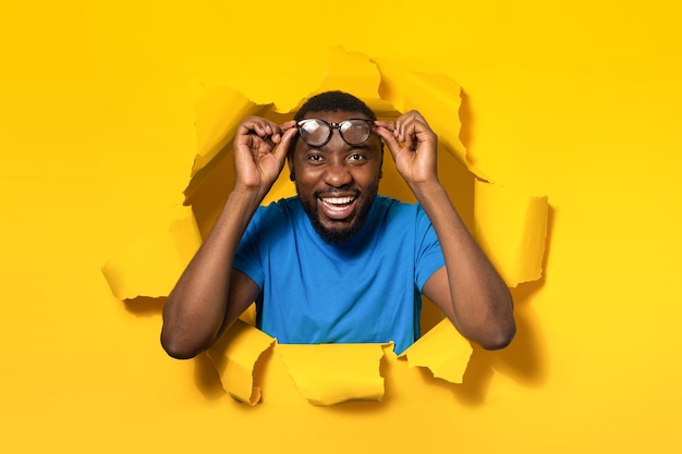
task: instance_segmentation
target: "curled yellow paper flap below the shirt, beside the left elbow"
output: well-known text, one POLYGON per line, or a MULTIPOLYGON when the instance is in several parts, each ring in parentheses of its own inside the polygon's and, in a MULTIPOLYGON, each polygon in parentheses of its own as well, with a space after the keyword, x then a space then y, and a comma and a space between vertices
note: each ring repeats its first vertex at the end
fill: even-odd
POLYGON ((207 352, 228 394, 248 405, 260 401, 260 386, 254 383, 258 358, 276 340, 238 319, 207 352))

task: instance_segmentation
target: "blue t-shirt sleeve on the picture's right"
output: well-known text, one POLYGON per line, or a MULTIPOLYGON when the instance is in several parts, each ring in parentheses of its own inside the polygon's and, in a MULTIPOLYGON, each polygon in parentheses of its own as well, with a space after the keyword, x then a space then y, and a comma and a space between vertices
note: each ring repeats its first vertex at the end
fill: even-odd
POLYGON ((422 292, 426 281, 446 265, 446 259, 434 225, 418 204, 416 216, 415 284, 422 292))

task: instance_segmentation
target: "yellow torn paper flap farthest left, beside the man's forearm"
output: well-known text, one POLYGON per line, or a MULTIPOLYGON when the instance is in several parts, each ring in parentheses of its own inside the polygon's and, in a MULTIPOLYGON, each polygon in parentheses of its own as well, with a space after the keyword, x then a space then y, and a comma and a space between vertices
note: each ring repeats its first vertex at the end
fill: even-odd
POLYGON ((147 232, 112 256, 101 271, 119 299, 168 296, 202 238, 192 209, 176 207, 169 228, 147 232))

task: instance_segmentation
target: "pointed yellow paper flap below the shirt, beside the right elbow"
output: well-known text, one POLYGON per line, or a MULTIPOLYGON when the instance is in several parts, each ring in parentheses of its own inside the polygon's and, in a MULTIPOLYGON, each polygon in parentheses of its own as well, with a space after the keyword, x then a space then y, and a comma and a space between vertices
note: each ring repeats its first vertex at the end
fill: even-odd
POLYGON ((429 369, 435 378, 462 383, 472 352, 471 343, 458 332, 450 320, 443 319, 399 358, 406 357, 410 367, 429 369))

